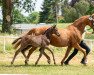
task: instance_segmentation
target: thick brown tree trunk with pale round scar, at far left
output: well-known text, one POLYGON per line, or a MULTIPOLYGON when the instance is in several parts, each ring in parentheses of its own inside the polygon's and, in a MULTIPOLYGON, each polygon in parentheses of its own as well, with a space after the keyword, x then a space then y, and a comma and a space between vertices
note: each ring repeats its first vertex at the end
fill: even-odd
POLYGON ((11 33, 12 0, 3 0, 2 1, 2 14, 3 14, 2 32, 11 33))

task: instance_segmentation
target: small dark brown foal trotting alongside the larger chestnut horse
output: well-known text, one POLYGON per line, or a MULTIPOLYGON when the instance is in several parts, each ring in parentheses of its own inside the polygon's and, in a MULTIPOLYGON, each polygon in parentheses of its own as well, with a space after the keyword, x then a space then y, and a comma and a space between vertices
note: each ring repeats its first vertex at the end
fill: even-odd
POLYGON ((38 63, 39 59, 41 58, 42 54, 45 55, 45 53, 44 53, 45 48, 48 49, 52 53, 54 64, 56 64, 53 52, 48 48, 48 45, 50 44, 52 34, 60 36, 60 34, 58 33, 58 30, 56 28, 56 25, 48 28, 41 35, 27 35, 27 36, 24 36, 21 40, 21 46, 15 52, 15 55, 14 55, 14 58, 13 58, 11 64, 14 63, 14 60, 15 60, 16 56, 19 54, 19 52, 22 52, 22 54, 26 58, 26 55, 24 53, 24 48, 28 47, 28 45, 30 45, 32 47, 40 47, 40 49, 39 49, 40 55, 39 55, 39 58, 37 59, 35 65, 37 65, 37 63, 38 63))

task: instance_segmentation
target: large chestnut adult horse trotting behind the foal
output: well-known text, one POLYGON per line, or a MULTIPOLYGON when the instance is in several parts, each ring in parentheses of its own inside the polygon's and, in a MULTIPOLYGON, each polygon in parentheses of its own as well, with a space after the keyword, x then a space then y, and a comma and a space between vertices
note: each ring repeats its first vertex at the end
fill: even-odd
MULTIPOLYGON (((90 15, 82 16, 81 18, 74 21, 67 28, 58 29, 58 31, 60 33, 60 37, 57 37, 55 35, 53 35, 51 37, 51 42, 50 42, 51 45, 56 46, 56 47, 66 47, 66 46, 68 46, 67 51, 65 53, 65 56, 61 61, 61 65, 63 65, 64 60, 67 58, 67 56, 68 56, 70 50, 72 49, 72 47, 81 51, 84 54, 84 58, 86 59, 86 53, 85 53, 84 49, 79 46, 79 43, 81 41, 82 34, 84 33, 84 29, 87 25, 90 26, 94 31, 94 14, 91 15, 91 16, 90 15)), ((30 35, 32 33, 35 33, 36 35, 40 35, 47 28, 49 28, 49 27, 40 27, 40 28, 31 29, 24 36, 30 35)), ((21 42, 20 39, 21 38, 18 38, 13 42, 13 44, 15 45, 16 48, 20 45, 20 42, 21 42)), ((28 61, 30 55, 33 53, 34 50, 36 50, 36 47, 32 47, 29 50, 26 62, 28 61)))

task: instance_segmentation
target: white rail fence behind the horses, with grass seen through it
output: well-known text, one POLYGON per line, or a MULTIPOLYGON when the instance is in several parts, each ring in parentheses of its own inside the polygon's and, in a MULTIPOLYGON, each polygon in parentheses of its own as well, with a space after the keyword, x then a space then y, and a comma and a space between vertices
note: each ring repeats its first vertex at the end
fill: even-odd
MULTIPOLYGON (((0 36, 0 50, 3 52, 7 52, 12 48, 12 41, 16 39, 17 36, 0 36)), ((94 40, 93 39, 84 39, 85 43, 90 47, 90 49, 94 49, 94 40)))

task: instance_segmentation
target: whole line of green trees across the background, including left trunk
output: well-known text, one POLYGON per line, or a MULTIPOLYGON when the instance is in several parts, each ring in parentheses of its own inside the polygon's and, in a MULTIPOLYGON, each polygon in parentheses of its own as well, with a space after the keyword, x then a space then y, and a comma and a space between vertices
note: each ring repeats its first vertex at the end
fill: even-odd
POLYGON ((3 23, 2 32, 11 33, 13 23, 73 22, 75 19, 94 13, 93 0, 44 0, 41 12, 33 12, 37 0, 0 0, 3 23), (61 8, 62 15, 58 15, 61 8), (22 10, 28 16, 21 14, 22 10))

